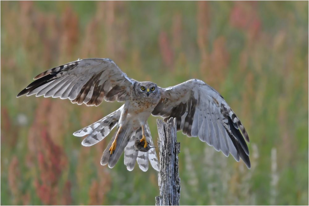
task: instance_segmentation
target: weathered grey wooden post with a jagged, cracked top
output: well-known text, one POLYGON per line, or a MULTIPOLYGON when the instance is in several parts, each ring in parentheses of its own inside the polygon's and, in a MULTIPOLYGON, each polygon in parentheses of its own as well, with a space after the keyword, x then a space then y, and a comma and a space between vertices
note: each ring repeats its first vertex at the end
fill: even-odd
POLYGON ((180 178, 178 153, 180 143, 177 142, 176 118, 170 118, 167 122, 157 119, 159 133, 159 191, 155 198, 156 205, 179 205, 180 178))

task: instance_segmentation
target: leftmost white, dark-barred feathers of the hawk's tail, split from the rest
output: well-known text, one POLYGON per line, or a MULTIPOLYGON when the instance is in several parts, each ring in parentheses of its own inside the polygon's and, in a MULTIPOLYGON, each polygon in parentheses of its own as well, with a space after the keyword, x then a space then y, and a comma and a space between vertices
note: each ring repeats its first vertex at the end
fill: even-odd
POLYGON ((91 146, 98 143, 99 141, 103 140, 117 125, 122 108, 123 105, 99 121, 74 132, 73 135, 77 137, 83 137, 88 134, 88 136, 82 141, 82 145, 84 146, 91 146))

